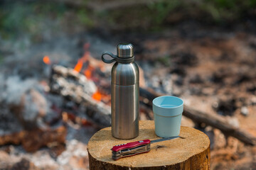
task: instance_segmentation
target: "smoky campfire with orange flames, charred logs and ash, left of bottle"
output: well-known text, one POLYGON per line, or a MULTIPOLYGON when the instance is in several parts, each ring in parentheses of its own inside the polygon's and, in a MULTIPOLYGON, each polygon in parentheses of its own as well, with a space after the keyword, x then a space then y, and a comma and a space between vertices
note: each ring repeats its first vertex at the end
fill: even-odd
MULTIPOLYGON (((81 142, 87 142, 95 130, 110 125, 111 101, 110 86, 105 82, 106 75, 102 72, 103 65, 90 56, 89 47, 89 43, 84 45, 84 54, 73 67, 70 65, 69 68, 53 62, 50 55, 42 58, 46 67, 52 69, 50 83, 27 82, 28 88, 21 91, 22 94, 18 96, 20 98, 17 98, 17 102, 11 102, 9 105, 10 111, 18 118, 14 121, 13 115, 9 115, 12 121, 10 123, 16 124, 16 127, 9 128, 14 129, 11 132, 2 132, 0 145, 6 145, 5 149, 11 149, 9 145, 21 145, 28 153, 40 152, 47 147, 48 153, 45 155, 53 159, 60 158, 58 164, 64 164, 61 162, 61 157, 64 157, 70 161, 77 159, 73 164, 87 168, 87 153, 84 148, 86 145, 82 145, 81 142), (55 84, 55 81, 58 81, 58 84, 55 84), (101 84, 105 85, 98 88, 101 84), (38 86, 43 89, 38 91, 38 86), (58 88, 61 87, 63 89, 59 96, 58 88), (76 91, 77 95, 74 96, 73 91, 76 91), (33 113, 30 106, 33 106, 33 113), (84 130, 88 132, 82 132, 84 130), (83 135, 82 140, 80 137, 73 137, 74 135, 83 135), (74 148, 75 146, 78 148, 74 148), (73 152, 79 149, 83 151, 73 156, 73 152)), ((17 78, 17 81, 21 80, 17 78)), ((50 160, 48 158, 48 161, 50 160)), ((65 164, 70 164, 70 161, 65 164)), ((6 166, 16 166, 12 164, 6 160, 6 166)), ((26 167, 26 164, 32 163, 29 159, 22 159, 17 164, 26 167)))

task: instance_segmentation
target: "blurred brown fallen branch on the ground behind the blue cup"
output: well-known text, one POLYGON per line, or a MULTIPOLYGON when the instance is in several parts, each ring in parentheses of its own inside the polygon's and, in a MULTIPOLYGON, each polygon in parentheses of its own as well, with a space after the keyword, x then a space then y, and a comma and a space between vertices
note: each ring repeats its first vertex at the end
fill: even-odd
MULTIPOLYGON (((163 96, 163 94, 157 94, 152 89, 140 88, 139 92, 141 96, 148 98, 149 101, 153 101, 153 99, 158 96, 163 96)), ((256 137, 250 135, 245 130, 242 130, 230 124, 228 119, 223 116, 197 111, 189 106, 184 107, 183 115, 187 118, 190 118, 196 123, 206 123, 206 125, 217 128, 221 130, 224 135, 235 137, 241 142, 244 142, 245 144, 256 145, 256 137)))

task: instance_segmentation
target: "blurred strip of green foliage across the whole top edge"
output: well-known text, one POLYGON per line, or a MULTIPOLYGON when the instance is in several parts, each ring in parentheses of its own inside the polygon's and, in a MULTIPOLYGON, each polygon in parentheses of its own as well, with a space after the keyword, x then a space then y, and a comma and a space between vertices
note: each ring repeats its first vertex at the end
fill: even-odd
POLYGON ((59 30, 68 24, 94 28, 99 26, 98 23, 104 23, 106 27, 117 30, 159 31, 165 23, 191 18, 217 24, 243 21, 256 8, 256 0, 161 0, 148 5, 95 12, 84 8, 87 1, 83 0, 81 8, 43 0, 4 4, 0 6, 1 38, 15 39, 23 33, 40 37, 45 30, 59 30), (177 20, 176 13, 181 14, 177 20), (68 15, 73 18, 71 21, 66 20, 68 15))

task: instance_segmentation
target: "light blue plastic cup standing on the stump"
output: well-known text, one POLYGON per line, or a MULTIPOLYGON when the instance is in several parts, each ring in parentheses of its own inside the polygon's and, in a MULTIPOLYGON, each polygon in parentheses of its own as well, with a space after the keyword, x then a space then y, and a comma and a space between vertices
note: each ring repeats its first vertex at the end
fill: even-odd
POLYGON ((155 132, 159 137, 178 136, 181 130, 183 101, 175 96, 160 96, 153 100, 155 132))

